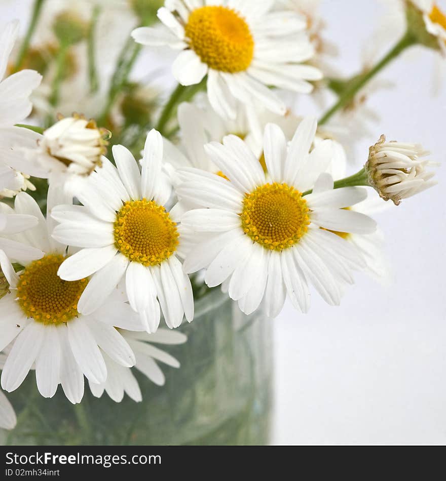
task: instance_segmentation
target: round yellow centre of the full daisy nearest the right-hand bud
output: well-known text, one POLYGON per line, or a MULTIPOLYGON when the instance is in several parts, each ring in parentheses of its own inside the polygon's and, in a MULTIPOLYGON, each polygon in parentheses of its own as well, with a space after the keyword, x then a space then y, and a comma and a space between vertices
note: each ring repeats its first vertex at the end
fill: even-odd
POLYGON ((267 249, 282 251, 299 242, 310 224, 310 210, 299 190, 265 184, 243 199, 240 215, 245 234, 267 249))

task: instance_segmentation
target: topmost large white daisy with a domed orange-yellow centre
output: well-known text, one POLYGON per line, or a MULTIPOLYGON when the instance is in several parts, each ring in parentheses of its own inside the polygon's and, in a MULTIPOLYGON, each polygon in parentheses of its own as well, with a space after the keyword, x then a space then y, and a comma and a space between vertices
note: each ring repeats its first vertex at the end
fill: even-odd
POLYGON ((271 11, 273 0, 167 0, 158 11, 163 30, 140 27, 132 32, 143 45, 181 50, 172 71, 184 86, 207 75, 212 107, 224 117, 237 115, 236 99, 261 103, 278 114, 285 105, 268 88, 309 93, 309 81, 321 72, 301 62, 314 48, 305 32, 305 18, 292 11, 271 11))

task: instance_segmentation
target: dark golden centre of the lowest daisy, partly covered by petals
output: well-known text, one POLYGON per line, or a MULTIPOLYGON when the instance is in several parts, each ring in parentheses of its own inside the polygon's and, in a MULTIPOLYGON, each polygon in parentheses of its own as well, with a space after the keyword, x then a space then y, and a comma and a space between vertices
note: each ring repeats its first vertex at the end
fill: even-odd
POLYGON ((58 325, 79 315, 78 301, 88 280, 62 280, 57 270, 64 260, 61 255, 49 254, 31 262, 20 275, 17 300, 27 317, 58 325))

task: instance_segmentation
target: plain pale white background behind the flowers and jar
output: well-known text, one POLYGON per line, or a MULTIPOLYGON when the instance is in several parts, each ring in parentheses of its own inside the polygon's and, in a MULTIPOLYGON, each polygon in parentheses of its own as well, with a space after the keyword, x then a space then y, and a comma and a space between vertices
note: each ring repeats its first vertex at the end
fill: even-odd
MULTIPOLYGON (((13 16, 26 23, 29 4, 3 0, 1 23, 13 16)), ((325 36, 339 45, 336 66, 346 75, 360 68, 364 43, 378 41, 373 33, 384 12, 377 0, 321 2, 325 36)), ((433 159, 446 159, 446 85, 432 96, 435 56, 414 50, 383 74, 397 87, 371 99, 381 121, 357 149, 358 166, 383 133, 422 142, 433 159)), ((306 113, 305 102, 296 113, 306 113)), ((444 177, 440 167, 438 186, 378 217, 393 266, 390 287, 358 275, 340 307, 314 295, 309 314, 287 303, 274 321, 274 444, 446 443, 444 177)))

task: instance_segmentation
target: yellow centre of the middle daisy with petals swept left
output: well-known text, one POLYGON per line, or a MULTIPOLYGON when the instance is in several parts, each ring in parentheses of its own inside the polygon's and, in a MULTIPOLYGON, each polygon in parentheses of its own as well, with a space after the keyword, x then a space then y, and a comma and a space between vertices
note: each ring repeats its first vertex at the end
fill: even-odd
POLYGON ((154 201, 126 202, 116 216, 114 227, 116 247, 130 260, 145 266, 160 264, 178 246, 175 222, 154 201))

